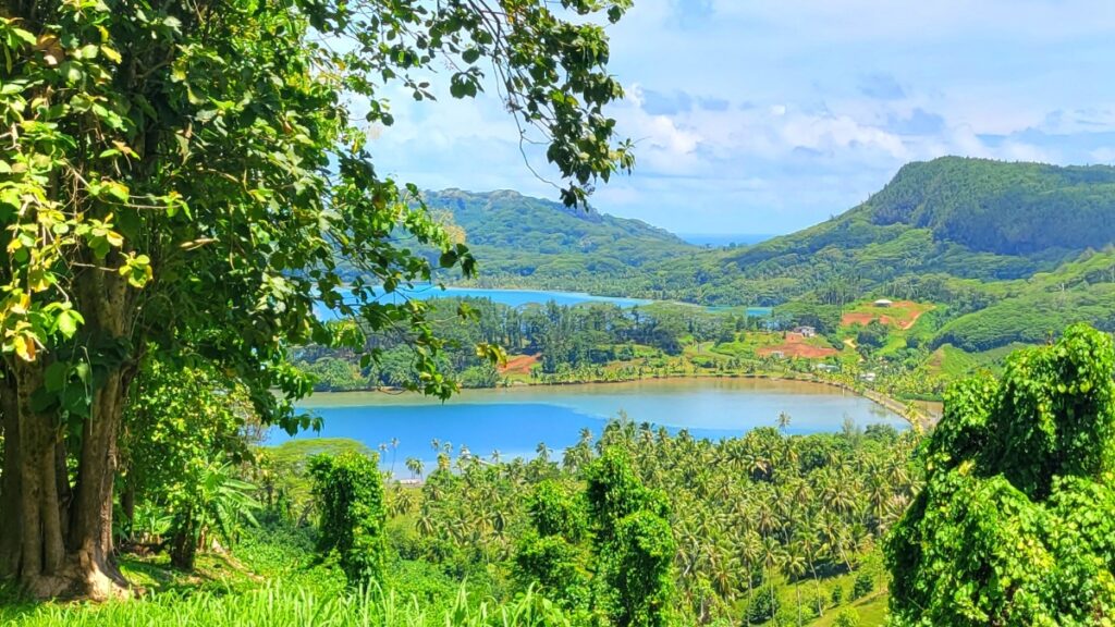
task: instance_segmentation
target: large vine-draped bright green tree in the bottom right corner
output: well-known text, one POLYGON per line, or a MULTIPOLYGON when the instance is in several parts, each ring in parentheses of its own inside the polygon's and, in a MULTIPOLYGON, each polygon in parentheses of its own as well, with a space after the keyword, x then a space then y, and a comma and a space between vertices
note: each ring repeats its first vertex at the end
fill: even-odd
POLYGON ((1115 610, 1115 348, 1084 326, 954 387, 888 542, 892 621, 1090 625, 1115 610))

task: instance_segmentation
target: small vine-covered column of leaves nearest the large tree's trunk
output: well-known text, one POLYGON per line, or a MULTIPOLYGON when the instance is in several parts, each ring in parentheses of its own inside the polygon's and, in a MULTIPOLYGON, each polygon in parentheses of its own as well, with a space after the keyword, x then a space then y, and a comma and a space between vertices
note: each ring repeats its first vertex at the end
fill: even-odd
POLYGON ((336 553, 355 586, 382 581, 387 513, 378 456, 319 455, 309 472, 319 512, 318 551, 336 553))

